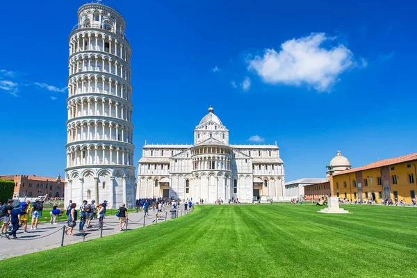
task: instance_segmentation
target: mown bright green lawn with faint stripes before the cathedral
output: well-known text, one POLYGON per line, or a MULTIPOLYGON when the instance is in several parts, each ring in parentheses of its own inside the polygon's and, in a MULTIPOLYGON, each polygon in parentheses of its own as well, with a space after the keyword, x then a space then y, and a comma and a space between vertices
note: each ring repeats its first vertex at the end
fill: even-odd
POLYGON ((417 277, 417 208, 197 206, 190 215, 0 261, 1 272, 89 277, 417 277), (81 254, 90 254, 85 259, 81 254), (52 263, 51 262, 65 263, 52 263))

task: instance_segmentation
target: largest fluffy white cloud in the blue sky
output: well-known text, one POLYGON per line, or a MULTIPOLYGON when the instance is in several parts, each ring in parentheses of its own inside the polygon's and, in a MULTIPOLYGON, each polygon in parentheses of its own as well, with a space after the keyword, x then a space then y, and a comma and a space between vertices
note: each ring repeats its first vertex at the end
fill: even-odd
POLYGON ((343 44, 322 45, 334 40, 325 33, 287 40, 279 52, 266 49, 262 57, 249 60, 248 69, 259 74, 265 83, 306 84, 320 92, 329 91, 342 72, 357 65, 352 51, 343 44))

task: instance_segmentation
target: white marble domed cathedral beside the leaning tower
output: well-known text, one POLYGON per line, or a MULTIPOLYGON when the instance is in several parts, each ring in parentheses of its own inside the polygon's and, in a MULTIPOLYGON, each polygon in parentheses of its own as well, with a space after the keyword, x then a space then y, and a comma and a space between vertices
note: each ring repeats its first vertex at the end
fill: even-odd
POLYGON ((229 129, 210 106, 194 129, 194 145, 145 143, 137 182, 136 199, 282 200, 284 162, 276 144, 230 145, 229 129))

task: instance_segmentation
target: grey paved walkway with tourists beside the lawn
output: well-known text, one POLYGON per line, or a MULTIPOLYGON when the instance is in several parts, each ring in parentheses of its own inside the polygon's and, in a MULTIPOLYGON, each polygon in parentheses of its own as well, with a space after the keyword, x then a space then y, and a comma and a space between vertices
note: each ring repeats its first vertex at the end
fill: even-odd
MULTIPOLYGON (((169 208, 162 213, 161 218, 158 218, 158 222, 171 219, 171 213, 169 208)), ((178 217, 185 215, 184 211, 177 211, 178 217)), ((155 224, 156 215, 154 212, 149 213, 144 219, 144 213, 129 213, 129 220, 127 229, 138 229, 140 227, 149 226, 155 224), (145 224, 144 224, 145 221, 145 224)), ((60 247, 61 240, 63 238, 63 226, 66 222, 58 222, 56 225, 51 225, 49 223, 38 224, 37 230, 30 230, 30 225, 28 226, 28 234, 23 233, 23 227, 20 227, 17 231, 17 239, 8 239, 2 235, 0 238, 0 260, 11 258, 13 256, 22 256, 24 254, 35 253, 43 250, 49 250, 52 248, 60 247)), ((94 238, 99 238, 101 231, 98 229, 98 220, 92 221, 92 228, 87 229, 84 227, 85 233, 78 232, 79 221, 74 227, 74 236, 64 236, 64 246, 81 243, 84 240, 92 240, 94 238)), ((126 227, 125 227, 126 228, 126 227)), ((115 215, 106 216, 104 218, 103 225, 103 236, 111 236, 113 234, 124 233, 125 231, 120 231, 119 220, 115 215)))

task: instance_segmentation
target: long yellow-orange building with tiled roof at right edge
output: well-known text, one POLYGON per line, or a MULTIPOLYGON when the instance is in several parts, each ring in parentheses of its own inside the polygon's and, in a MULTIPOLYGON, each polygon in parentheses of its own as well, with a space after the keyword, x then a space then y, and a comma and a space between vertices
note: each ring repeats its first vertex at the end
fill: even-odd
POLYGON ((398 198, 411 203, 417 192, 417 153, 376 161, 330 176, 333 193, 346 199, 398 198))

